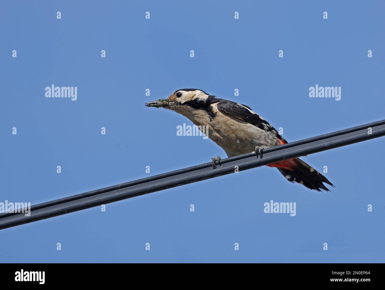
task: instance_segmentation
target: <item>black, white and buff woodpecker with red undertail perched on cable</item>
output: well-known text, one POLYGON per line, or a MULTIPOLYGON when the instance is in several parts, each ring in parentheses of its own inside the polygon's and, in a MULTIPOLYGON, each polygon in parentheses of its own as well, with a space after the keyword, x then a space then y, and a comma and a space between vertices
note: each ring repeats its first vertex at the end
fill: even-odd
MULTIPOLYGON (((205 127, 208 128, 208 137, 222 147, 228 157, 254 150, 262 155, 264 148, 288 143, 249 106, 217 98, 200 89, 178 89, 167 99, 159 99, 145 105, 175 111, 195 125, 202 126, 198 128, 208 126, 205 127)), ((325 176, 300 158, 266 166, 276 167, 287 180, 303 184, 309 189, 329 191, 323 182, 334 187, 325 176)))

